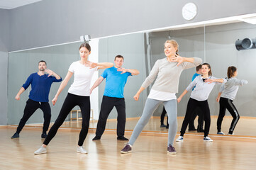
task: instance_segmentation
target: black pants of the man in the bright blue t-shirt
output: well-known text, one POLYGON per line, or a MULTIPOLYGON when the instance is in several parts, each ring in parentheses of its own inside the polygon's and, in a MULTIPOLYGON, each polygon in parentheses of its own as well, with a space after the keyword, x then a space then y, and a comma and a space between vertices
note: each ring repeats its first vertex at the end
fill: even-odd
POLYGON ((99 113, 99 121, 96 129, 96 136, 101 137, 106 128, 106 120, 113 107, 117 111, 117 128, 116 133, 118 137, 123 137, 126 128, 126 102, 124 98, 113 98, 103 96, 101 103, 101 112, 99 113))

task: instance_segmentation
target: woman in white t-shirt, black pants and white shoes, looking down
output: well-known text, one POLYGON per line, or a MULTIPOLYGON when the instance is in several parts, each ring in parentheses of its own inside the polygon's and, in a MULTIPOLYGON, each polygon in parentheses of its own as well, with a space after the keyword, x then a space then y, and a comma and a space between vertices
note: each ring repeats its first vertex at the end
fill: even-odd
POLYGON ((34 154, 44 154, 47 152, 46 147, 49 144, 50 140, 56 135, 57 130, 60 128, 62 123, 67 118, 67 115, 74 106, 79 106, 82 113, 82 129, 79 134, 79 141, 77 152, 82 154, 87 154, 87 151, 82 147, 85 137, 87 137, 87 132, 89 128, 89 120, 90 120, 90 84, 91 77, 95 71, 98 69, 106 69, 109 67, 113 67, 113 64, 110 62, 104 63, 94 63, 89 62, 88 57, 91 54, 91 47, 87 43, 83 43, 79 47, 79 53, 81 60, 77 62, 73 62, 69 70, 67 72, 67 76, 60 84, 60 87, 55 95, 55 98, 52 99, 53 106, 57 101, 57 97, 60 95, 60 92, 67 86, 67 82, 74 74, 74 82, 69 87, 67 97, 62 105, 60 110, 60 114, 55 120, 54 125, 50 128, 48 136, 45 138, 43 145, 34 152, 34 154))

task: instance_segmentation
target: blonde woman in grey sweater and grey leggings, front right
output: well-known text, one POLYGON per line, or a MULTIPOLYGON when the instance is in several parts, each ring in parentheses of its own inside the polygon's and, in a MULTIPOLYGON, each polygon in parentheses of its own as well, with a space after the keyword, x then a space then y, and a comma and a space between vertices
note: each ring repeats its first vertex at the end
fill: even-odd
POLYGON ((177 53, 178 49, 179 45, 175 40, 167 40, 165 42, 166 57, 155 62, 150 75, 145 79, 139 91, 133 97, 135 101, 138 101, 140 93, 156 79, 145 102, 143 115, 141 115, 128 144, 121 150, 121 153, 131 152, 131 147, 138 138, 138 135, 140 135, 140 132, 148 123, 156 108, 160 103, 163 103, 167 111, 169 123, 167 152, 169 154, 176 154, 173 142, 177 132, 177 100, 175 94, 178 92, 179 77, 184 69, 196 67, 202 61, 196 57, 180 57, 177 53))

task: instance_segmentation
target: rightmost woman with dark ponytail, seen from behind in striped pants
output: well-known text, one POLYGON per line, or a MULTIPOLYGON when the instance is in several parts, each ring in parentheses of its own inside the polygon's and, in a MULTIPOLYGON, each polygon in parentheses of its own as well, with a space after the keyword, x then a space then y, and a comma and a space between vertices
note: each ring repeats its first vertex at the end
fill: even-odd
POLYGON ((218 97, 216 101, 220 103, 220 113, 218 114, 217 120, 217 134, 225 135, 221 132, 221 123, 226 113, 226 108, 230 112, 233 117, 232 123, 229 128, 228 135, 234 135, 233 131, 235 129, 235 125, 238 123, 240 118, 238 114, 238 110, 235 108, 233 104, 233 100, 235 99, 236 93, 238 92, 238 86, 243 86, 247 84, 248 81, 236 79, 235 77, 238 75, 238 70, 234 66, 228 67, 228 80, 226 84, 221 86, 220 92, 218 93, 218 97))

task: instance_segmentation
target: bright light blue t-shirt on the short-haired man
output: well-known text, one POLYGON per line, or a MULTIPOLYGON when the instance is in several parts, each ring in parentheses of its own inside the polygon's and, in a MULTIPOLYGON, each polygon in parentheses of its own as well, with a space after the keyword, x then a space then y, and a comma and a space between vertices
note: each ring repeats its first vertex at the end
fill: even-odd
POLYGON ((101 77, 106 78, 104 96, 123 98, 123 89, 127 78, 131 76, 130 72, 121 74, 116 67, 105 69, 101 77))

